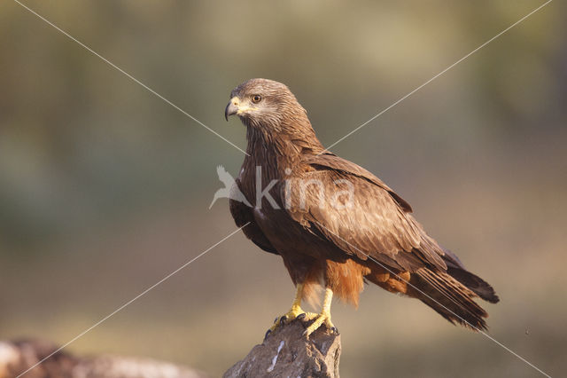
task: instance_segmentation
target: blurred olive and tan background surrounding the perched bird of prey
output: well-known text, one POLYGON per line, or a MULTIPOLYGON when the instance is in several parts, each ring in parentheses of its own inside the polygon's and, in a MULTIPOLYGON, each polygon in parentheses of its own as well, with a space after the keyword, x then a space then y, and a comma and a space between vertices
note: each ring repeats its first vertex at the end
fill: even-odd
MULTIPOLYGON (((26 1, 213 130, 251 77, 288 84, 329 146, 542 1, 26 1)), ((490 334, 567 369, 567 6, 548 4, 333 152, 408 200, 493 284, 490 334)), ((0 3, 0 339, 66 343, 236 229, 208 209, 244 155, 11 1, 0 3)), ((287 311, 242 233, 71 344, 219 375, 287 311)), ((483 335, 367 287, 336 303, 341 373, 538 376, 483 335)))

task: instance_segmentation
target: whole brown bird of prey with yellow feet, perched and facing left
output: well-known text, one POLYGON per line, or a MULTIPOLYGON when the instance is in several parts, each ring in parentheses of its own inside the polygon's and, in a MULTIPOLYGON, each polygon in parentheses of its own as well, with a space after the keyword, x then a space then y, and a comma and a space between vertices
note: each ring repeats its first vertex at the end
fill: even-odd
POLYGON ((488 314, 474 299, 497 303, 493 287, 440 247, 378 177, 325 150, 287 86, 267 79, 238 85, 225 118, 233 114, 247 138, 236 184, 254 206, 231 200, 230 212, 238 226, 246 224, 248 239, 282 257, 297 289, 267 335, 296 318, 313 320, 307 336, 322 325, 338 333, 332 296, 356 306, 365 282, 417 298, 451 323, 486 329, 488 314), (302 300, 318 287, 322 311, 303 311, 302 300))

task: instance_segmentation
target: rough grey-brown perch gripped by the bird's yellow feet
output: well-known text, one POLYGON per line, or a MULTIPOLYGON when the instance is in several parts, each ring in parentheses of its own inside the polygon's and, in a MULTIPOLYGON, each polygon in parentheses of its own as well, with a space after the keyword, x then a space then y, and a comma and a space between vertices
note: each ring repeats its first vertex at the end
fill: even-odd
POLYGON ((320 327, 307 339, 304 323, 296 319, 278 327, 268 338, 224 374, 237 377, 338 378, 340 335, 320 327))

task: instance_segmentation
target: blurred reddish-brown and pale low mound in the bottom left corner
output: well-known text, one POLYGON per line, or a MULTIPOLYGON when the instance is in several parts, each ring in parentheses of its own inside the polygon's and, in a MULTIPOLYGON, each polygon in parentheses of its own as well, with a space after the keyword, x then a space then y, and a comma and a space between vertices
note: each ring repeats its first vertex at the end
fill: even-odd
MULTIPOLYGON (((24 373, 57 346, 42 341, 0 342, 0 378, 14 378, 24 373)), ((25 378, 204 378, 206 374, 184 366, 150 358, 99 356, 76 357, 58 351, 25 378)))

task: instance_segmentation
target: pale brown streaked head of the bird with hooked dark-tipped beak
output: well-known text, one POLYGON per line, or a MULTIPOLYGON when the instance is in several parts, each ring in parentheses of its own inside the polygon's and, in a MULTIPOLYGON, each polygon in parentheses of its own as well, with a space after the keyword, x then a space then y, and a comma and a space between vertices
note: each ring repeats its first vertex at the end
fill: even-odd
POLYGON ((224 116, 228 121, 234 114, 246 126, 277 131, 287 123, 285 120, 307 121, 307 112, 288 87, 268 79, 250 79, 230 93, 224 116))

